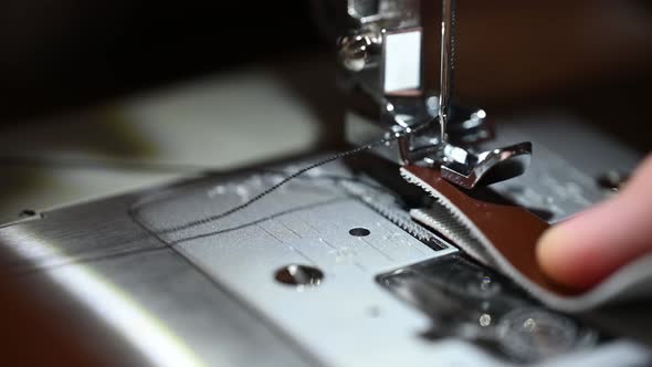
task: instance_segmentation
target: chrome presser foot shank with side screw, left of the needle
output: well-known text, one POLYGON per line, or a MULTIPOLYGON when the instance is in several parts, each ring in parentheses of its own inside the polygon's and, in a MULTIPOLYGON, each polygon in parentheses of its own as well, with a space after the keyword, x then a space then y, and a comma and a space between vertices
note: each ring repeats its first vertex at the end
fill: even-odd
MULTIPOLYGON (((420 1, 349 0, 347 3, 354 22, 338 42, 344 90, 350 101, 372 105, 374 124, 380 126, 380 129, 353 127, 356 133, 348 134, 349 141, 358 145, 378 140, 432 119, 425 104, 428 96, 422 91, 420 1)), ((351 124, 356 123, 347 122, 351 124)), ((401 139, 399 147, 387 157, 407 159, 411 143, 401 139)))

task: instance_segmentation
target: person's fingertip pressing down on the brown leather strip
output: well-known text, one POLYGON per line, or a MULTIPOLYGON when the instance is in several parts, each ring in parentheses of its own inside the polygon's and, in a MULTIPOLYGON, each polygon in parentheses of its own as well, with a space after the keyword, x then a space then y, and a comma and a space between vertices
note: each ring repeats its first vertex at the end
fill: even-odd
POLYGON ((551 227, 537 256, 555 281, 588 289, 652 251, 652 155, 612 199, 551 227))

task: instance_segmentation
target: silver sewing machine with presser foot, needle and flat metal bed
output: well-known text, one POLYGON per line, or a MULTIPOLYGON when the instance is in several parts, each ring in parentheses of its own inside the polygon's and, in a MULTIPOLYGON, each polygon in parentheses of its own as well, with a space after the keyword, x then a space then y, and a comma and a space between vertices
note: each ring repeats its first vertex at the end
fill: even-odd
MULTIPOLYGON (((453 4, 444 0, 444 8, 453 4)), ((649 363, 645 331, 634 335, 622 318, 603 314, 551 311, 410 216, 432 198, 400 177, 407 164, 446 167, 444 178, 469 190, 491 179, 494 195, 554 223, 617 195, 622 177, 616 174, 639 159, 564 116, 507 124, 480 107, 454 105, 445 31, 452 18, 443 22, 440 86, 428 85, 419 6, 348 1, 338 44, 341 92, 350 102, 346 139, 368 146, 365 151, 193 177, 27 213, 2 227, 1 269, 11 280, 3 294, 12 300, 6 313, 33 318, 43 333, 27 346, 10 344, 9 359, 649 363), (434 123, 442 119, 446 126, 434 123), (564 141, 556 126, 564 127, 564 141), (511 169, 497 170, 502 164, 511 169)), ((7 328, 23 322, 8 321, 7 328)))

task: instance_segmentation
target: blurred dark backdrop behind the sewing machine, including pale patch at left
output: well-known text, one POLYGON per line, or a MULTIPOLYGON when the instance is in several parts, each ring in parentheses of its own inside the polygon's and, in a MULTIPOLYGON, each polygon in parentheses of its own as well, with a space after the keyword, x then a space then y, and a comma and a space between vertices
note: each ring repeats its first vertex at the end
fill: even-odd
MULTIPOLYGON (((493 116, 562 112, 650 150, 650 1, 458 7, 462 103, 493 116)), ((336 8, 2 1, 1 213, 337 145, 336 8)))

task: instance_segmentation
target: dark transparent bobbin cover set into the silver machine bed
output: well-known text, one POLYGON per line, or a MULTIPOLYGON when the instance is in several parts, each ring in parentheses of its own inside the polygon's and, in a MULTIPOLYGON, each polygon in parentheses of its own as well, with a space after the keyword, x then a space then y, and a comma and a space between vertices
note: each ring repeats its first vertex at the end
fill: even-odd
POLYGON ((431 317, 431 340, 455 335, 526 364, 601 343, 598 331, 540 307, 501 274, 459 254, 382 274, 378 281, 431 317))

